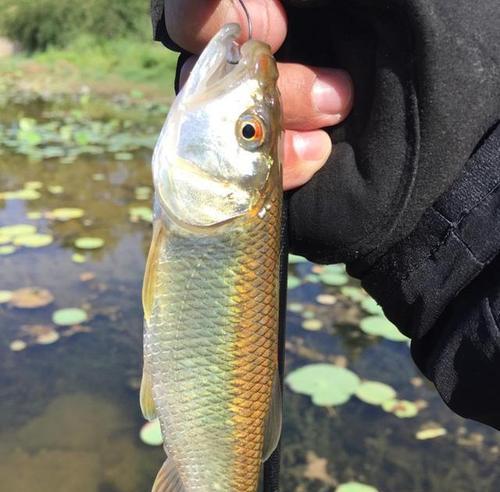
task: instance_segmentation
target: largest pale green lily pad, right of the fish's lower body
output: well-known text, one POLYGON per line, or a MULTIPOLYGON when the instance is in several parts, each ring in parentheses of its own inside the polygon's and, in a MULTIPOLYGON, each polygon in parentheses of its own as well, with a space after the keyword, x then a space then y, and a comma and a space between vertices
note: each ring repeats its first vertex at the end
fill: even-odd
POLYGON ((292 371, 286 384, 296 393, 309 395, 319 406, 342 405, 356 391, 360 380, 349 369, 333 364, 309 364, 292 371))

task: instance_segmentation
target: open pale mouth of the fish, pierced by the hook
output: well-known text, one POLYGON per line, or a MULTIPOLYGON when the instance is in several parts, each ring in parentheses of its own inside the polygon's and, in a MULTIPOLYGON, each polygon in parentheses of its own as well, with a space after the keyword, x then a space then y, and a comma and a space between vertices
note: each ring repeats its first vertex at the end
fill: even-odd
POLYGON ((255 39, 239 45, 240 33, 239 24, 225 24, 211 39, 179 94, 185 101, 203 97, 207 91, 227 90, 245 77, 262 87, 276 82, 278 71, 270 46, 255 39))

